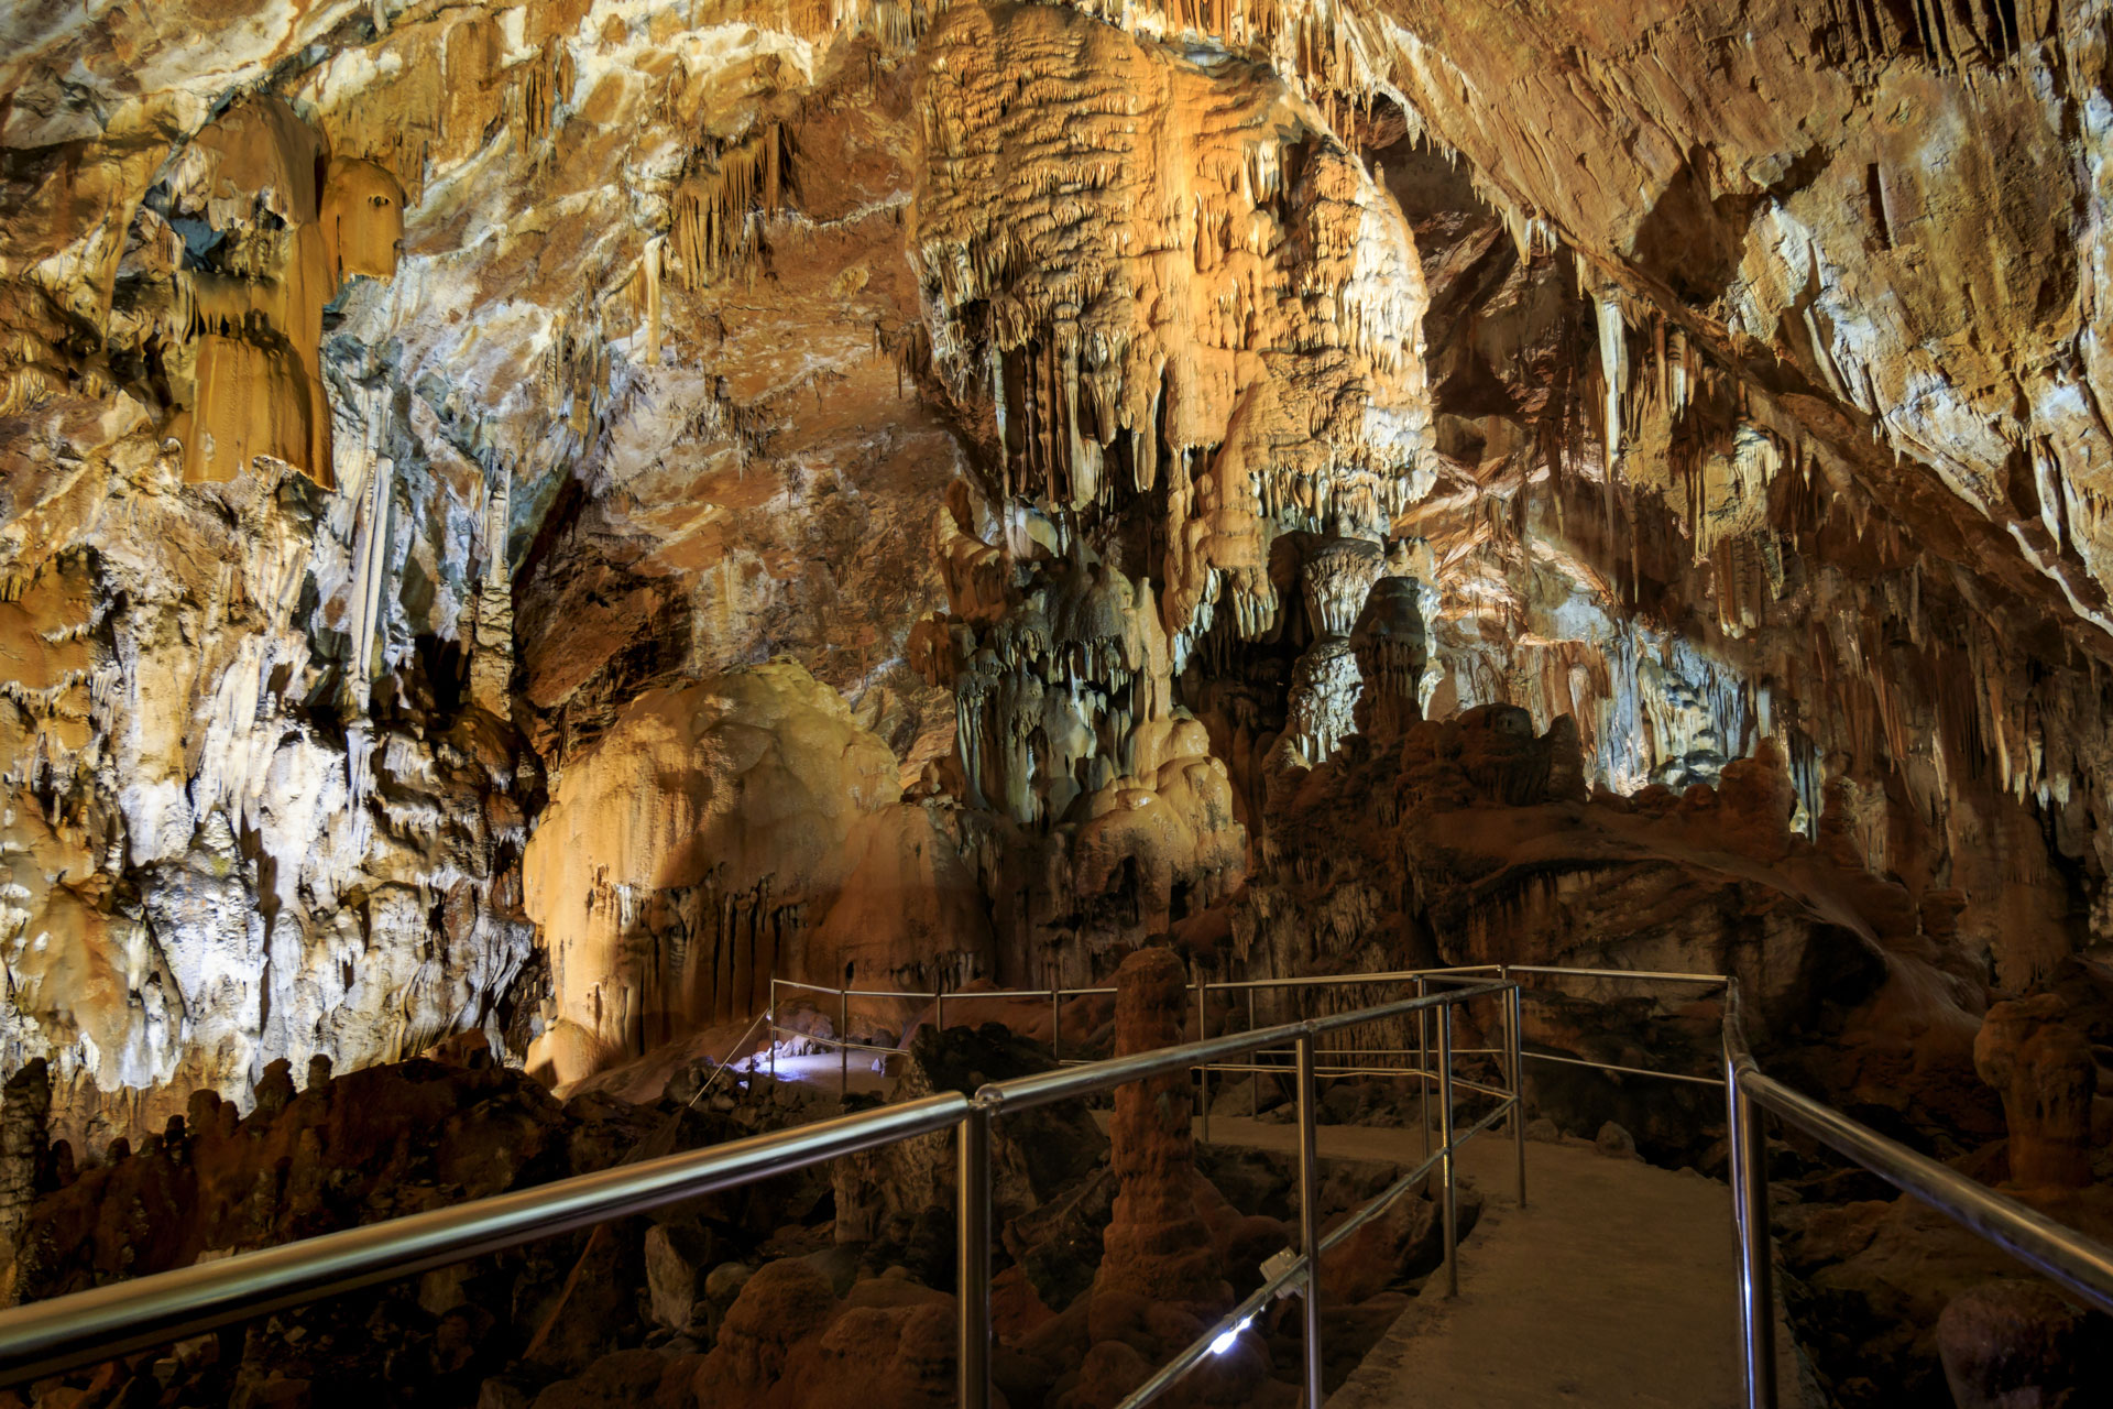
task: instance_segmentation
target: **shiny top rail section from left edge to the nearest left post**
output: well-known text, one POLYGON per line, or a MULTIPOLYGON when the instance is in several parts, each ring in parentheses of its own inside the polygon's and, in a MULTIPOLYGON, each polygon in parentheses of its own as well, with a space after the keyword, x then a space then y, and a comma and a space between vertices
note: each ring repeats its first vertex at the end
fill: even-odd
POLYGON ((966 1111, 957 1092, 904 1101, 34 1301, 0 1314, 0 1386, 949 1130, 966 1111))

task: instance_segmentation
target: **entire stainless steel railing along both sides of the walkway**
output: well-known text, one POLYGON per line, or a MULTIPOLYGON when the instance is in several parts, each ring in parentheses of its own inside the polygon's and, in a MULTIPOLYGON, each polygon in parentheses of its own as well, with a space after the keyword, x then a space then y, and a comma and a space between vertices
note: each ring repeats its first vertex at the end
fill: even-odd
MULTIPOLYGON (((989 1206, 989 1132, 991 1122, 1006 1111, 1029 1109, 1050 1101, 1067 1101, 1177 1071, 1270 1069, 1259 1063, 1236 1065, 1274 1048, 1293 1048, 1295 1098, 1299 1122, 1299 1248, 1302 1255, 1274 1272, 1253 1295, 1236 1305, 1215 1327, 1204 1331, 1181 1354, 1160 1367, 1122 1409, 1141 1409, 1181 1375, 1202 1363, 1228 1335, 1238 1335, 1276 1295, 1295 1286, 1304 1297, 1304 1382, 1308 1403, 1321 1403, 1321 1312, 1312 1295, 1316 1257, 1395 1200, 1439 1172, 1443 1200, 1447 1289, 1458 1291, 1458 1206, 1454 1153, 1475 1134, 1509 1120, 1519 1166, 1519 1202, 1526 1202, 1523 1156, 1523 1063, 1555 1060, 1619 1071, 1631 1075, 1682 1082, 1722 1084, 1726 1090, 1733 1215, 1739 1242, 1739 1310, 1747 1409, 1775 1409, 1775 1308, 1769 1255, 1769 1172, 1764 1113, 1807 1130, 1811 1136, 1849 1156, 1864 1168, 1971 1232, 1988 1238, 2020 1261, 2054 1278, 2090 1305, 2113 1314, 2113 1248, 2054 1219, 1988 1189, 1957 1170, 1885 1139, 1834 1107, 1807 1096, 1760 1071, 1745 1037, 1745 1012, 1739 984, 1714 974, 1661 974, 1644 970, 1570 970, 1549 965, 1481 965, 1452 972, 1359 974, 1312 980, 1253 980, 1228 987, 1310 989, 1325 984, 1416 982, 1418 997, 1380 1003, 1346 1014, 1327 1014, 1268 1029, 1228 1033, 1156 1052, 1139 1052, 1099 1063, 1082 1063, 1014 1082, 985 1086, 974 1096, 955 1092, 887 1105, 839 1120, 759 1134, 710 1149, 695 1149, 640 1164, 617 1166, 558 1183, 475 1200, 454 1208, 391 1219, 321 1238, 306 1238, 277 1248, 243 1253, 222 1261, 163 1272, 131 1282, 116 1282, 51 1301, 0 1312, 0 1386, 40 1379, 95 1360, 108 1360, 131 1350, 165 1344, 209 1331, 247 1316, 315 1301, 328 1295, 389 1282, 429 1267, 497 1253, 537 1238, 573 1232, 604 1219, 649 1213, 653 1208, 729 1189, 771 1175, 820 1164, 839 1156, 860 1153, 894 1141, 959 1130, 959 1314, 961 1314, 961 1403, 970 1409, 989 1405, 989 1284, 991 1284, 991 1206, 989 1206), (1673 1071, 1623 1067, 1549 1052, 1526 1052, 1521 1037, 1521 987, 1526 978, 1602 978, 1642 982, 1695 982, 1724 987, 1722 1077, 1695 1077, 1673 1071), (1431 991, 1437 987, 1439 991, 1431 991), (1454 1075, 1454 1058, 1464 1054, 1452 1044, 1456 1008, 1481 997, 1500 997, 1504 1041, 1485 1052, 1502 1058, 1509 1086, 1490 1088, 1454 1075), (1420 1060, 1418 1069, 1373 1067, 1371 1073, 1418 1075, 1420 1084, 1437 1088, 1439 1145, 1426 1151, 1420 1166, 1392 1187, 1369 1200, 1359 1213, 1319 1236, 1319 1149, 1316 1149, 1316 1079, 1321 1039, 1367 1022, 1414 1016, 1420 1046, 1424 1027, 1437 1018, 1437 1063, 1420 1060), (1471 1088, 1496 1096, 1496 1105, 1469 1128, 1454 1128, 1454 1094, 1471 1088)), ((775 980, 786 984, 788 980, 775 980)), ((792 984, 818 989, 816 984, 792 984)), ((862 991, 820 989, 841 993, 839 1012, 862 991)), ((1065 995, 1107 993, 1109 989, 1063 989, 1052 995, 1061 1010, 1065 995)), ((866 991, 871 997, 942 997, 866 991)), ((1050 991, 957 993, 968 997, 1044 997, 1050 991)), ((773 1035, 775 1010, 765 1014, 773 1035)), ((754 1027, 750 1029, 750 1033, 754 1027)), ((746 1035, 735 1044, 740 1050, 746 1035)), ((864 1044, 860 1044, 864 1046, 864 1044)), ((1401 1052, 1405 1054, 1405 1052, 1401 1052)), ((733 1052, 729 1052, 733 1056, 733 1052)), ((1344 1067, 1346 1073, 1354 1071, 1344 1067)), ((702 1092, 699 1092, 702 1094, 702 1092)), ((1428 1128, 1428 1126, 1426 1126, 1428 1128)))

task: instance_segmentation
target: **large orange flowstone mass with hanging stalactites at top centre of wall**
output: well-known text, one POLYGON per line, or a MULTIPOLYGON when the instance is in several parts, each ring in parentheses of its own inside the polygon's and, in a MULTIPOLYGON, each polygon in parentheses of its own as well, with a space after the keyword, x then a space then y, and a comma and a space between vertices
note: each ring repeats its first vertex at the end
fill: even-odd
POLYGON ((934 370, 989 387, 1004 490, 1086 524, 1152 503, 1162 558, 1128 568, 1164 583, 1175 670, 1221 615, 1276 630, 1276 534, 1378 537, 1428 492, 1399 207, 1261 70, 1035 6, 951 11, 921 59, 911 253, 934 370))

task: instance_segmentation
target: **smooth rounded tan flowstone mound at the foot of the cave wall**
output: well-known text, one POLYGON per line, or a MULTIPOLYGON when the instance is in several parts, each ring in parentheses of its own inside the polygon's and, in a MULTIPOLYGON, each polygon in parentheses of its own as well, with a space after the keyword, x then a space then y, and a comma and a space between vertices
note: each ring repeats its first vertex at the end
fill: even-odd
POLYGON ((792 663, 619 712, 558 782, 524 904, 556 1008, 532 1060, 566 1082, 754 1012, 773 972, 883 982, 955 944, 987 961, 940 824, 902 801, 887 746, 792 663))

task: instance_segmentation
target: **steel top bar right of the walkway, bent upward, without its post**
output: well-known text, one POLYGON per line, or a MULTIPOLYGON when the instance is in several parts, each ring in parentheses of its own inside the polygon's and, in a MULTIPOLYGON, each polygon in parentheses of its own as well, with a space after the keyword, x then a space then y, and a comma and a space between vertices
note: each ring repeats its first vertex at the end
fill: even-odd
POLYGON ((1745 1041, 1739 984, 1724 1008, 1724 1063, 1739 1090, 1769 1111, 2113 1314, 2113 1248, 1764 1073, 1745 1041))

